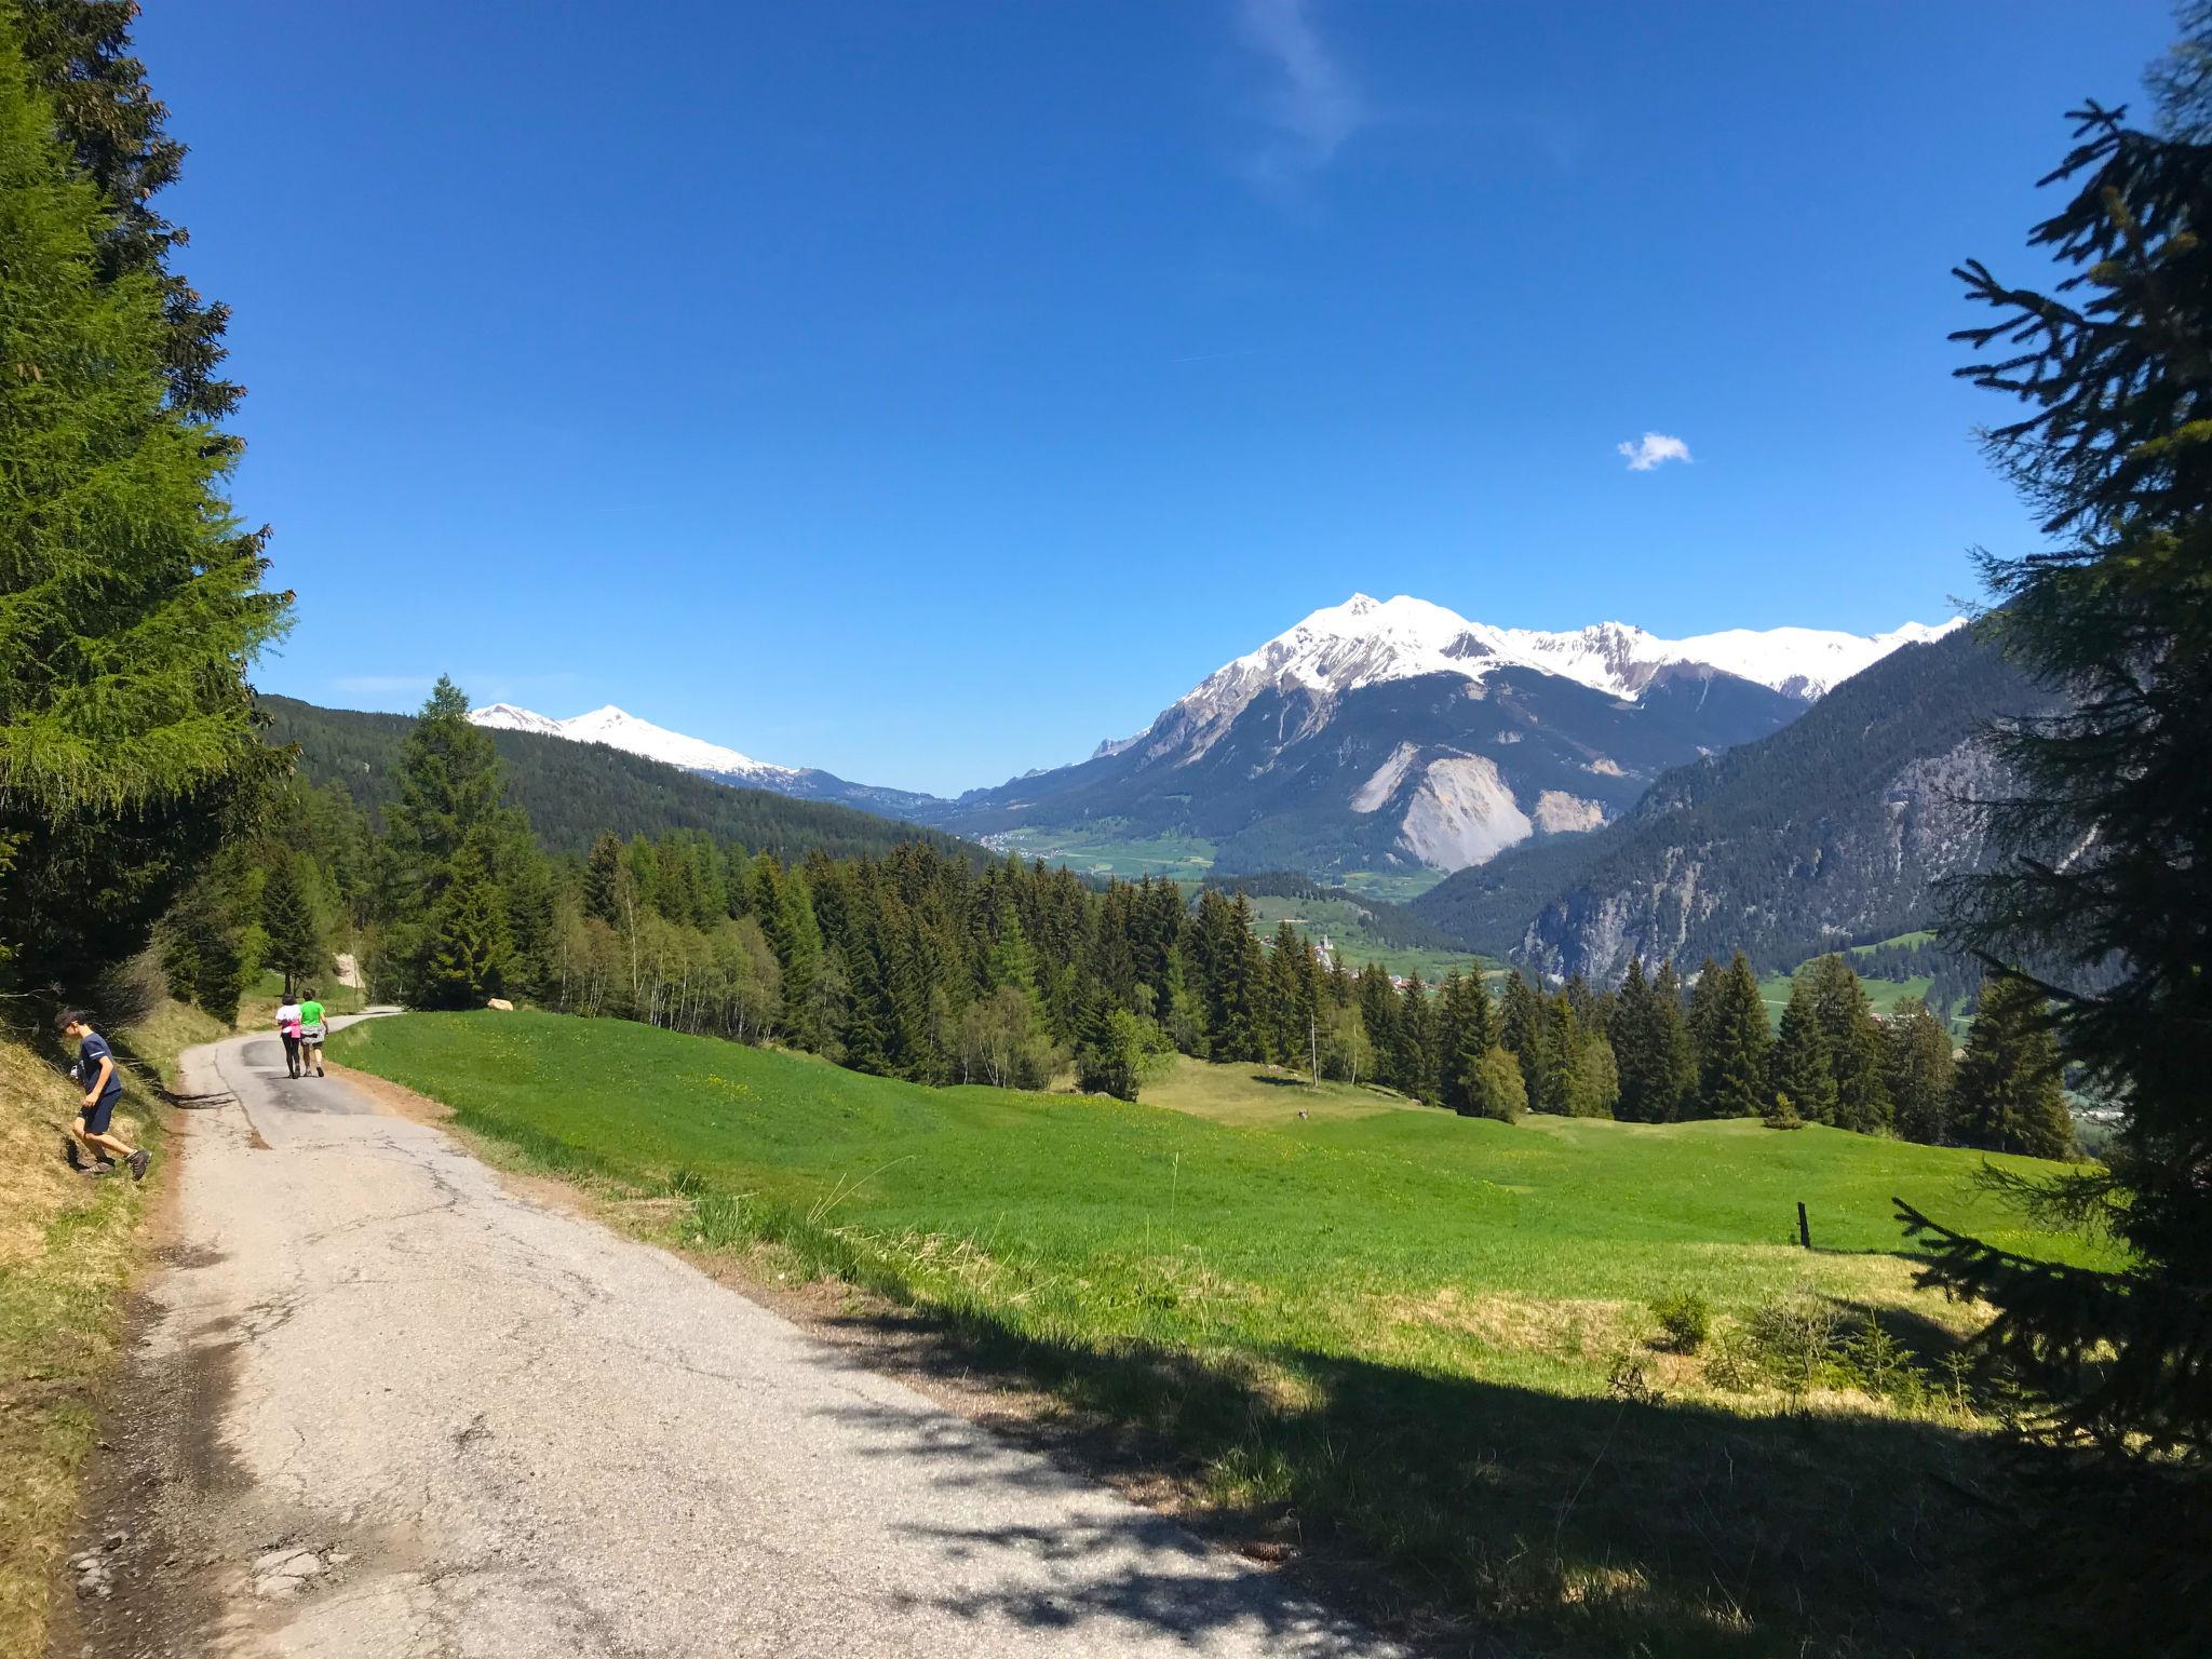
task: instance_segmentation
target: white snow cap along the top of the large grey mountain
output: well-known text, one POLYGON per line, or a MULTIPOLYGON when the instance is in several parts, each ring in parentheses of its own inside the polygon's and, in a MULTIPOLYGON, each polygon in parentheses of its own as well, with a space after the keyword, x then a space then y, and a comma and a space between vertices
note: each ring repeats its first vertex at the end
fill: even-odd
POLYGON ((1175 712, 1188 721, 1183 737, 1194 757, 1263 690, 1340 695, 1418 675, 1484 679, 1498 668, 1535 668, 1608 697, 1635 699, 1670 668, 1712 668, 1814 701, 1898 646, 1942 639, 1960 626, 1964 619, 1955 617, 1936 628, 1909 622, 1882 635, 1730 628, 1659 639, 1626 622, 1597 622, 1573 633, 1498 628, 1405 593, 1391 599, 1354 593, 1217 668, 1175 712))

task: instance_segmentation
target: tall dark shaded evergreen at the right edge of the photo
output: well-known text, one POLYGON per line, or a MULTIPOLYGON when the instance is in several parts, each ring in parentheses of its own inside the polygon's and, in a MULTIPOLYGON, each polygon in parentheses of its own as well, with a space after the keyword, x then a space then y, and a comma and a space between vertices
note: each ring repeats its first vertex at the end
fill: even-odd
POLYGON ((2203 1464, 2212 13, 2188 7, 2183 24, 2174 69, 2154 82, 2159 124, 2130 126, 2124 111, 2090 102, 2073 153, 2046 179, 2070 195, 2031 241, 2066 279, 2033 290, 1978 261, 1958 272, 1995 310, 1958 336, 1982 354, 1960 374, 2020 400, 1989 451, 2042 513, 2046 538, 2044 551, 1984 562, 2002 602, 1984 626, 2064 703, 1993 734, 2017 785, 1989 810, 2000 858, 1955 894, 1953 927, 1993 964, 2033 971, 2039 1018, 2090 1086, 2121 1104, 2106 1170, 2048 1197, 2095 1208, 2135 1265, 2117 1276, 2035 1272, 1909 1206, 1902 1214, 1938 1241, 1938 1283, 2002 1310, 1991 1345, 2064 1402, 2055 1429, 2203 1464))

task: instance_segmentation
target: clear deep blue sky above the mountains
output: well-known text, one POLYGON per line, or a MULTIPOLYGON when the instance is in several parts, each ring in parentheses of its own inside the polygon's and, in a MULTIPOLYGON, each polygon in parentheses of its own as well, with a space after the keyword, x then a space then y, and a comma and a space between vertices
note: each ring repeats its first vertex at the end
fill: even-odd
POLYGON ((2150 0, 153 0, 268 690, 960 790, 1354 591, 1878 630, 2150 0), (1690 460, 1630 467, 1674 438, 1690 460))

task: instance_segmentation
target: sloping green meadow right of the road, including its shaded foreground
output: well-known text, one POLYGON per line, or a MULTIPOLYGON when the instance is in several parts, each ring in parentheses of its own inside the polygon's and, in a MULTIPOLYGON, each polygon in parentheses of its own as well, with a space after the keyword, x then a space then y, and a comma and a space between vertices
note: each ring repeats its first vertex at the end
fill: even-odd
POLYGON ((1161 1104, 933 1091, 533 1013, 334 1053, 540 1168, 677 1197, 684 1243, 922 1310, 980 1369, 1152 1436, 1239 1524, 1385 1562, 1480 1650, 1931 1652, 1962 1617, 2033 1648, 1962 1498, 2000 1482, 1940 1365, 1973 1316, 1911 1290, 1887 1199, 2095 1250, 1997 1210, 1978 1157, 1462 1121, 1188 1062, 1161 1104), (1790 1243, 1801 1199, 1820 1250, 1790 1243), (1661 1340, 1679 1294, 1701 1343, 1661 1340), (1869 1310, 1913 1387, 1827 1363, 1829 1321, 1869 1310))

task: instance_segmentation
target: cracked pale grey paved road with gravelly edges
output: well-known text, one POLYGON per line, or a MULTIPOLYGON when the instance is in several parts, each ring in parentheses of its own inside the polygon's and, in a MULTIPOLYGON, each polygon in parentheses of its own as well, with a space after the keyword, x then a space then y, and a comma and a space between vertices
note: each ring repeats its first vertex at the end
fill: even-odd
POLYGON ((188 1086, 95 1652, 1391 1652, 274 1037, 188 1086))

